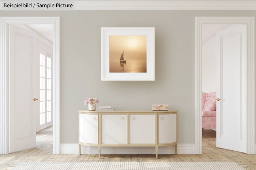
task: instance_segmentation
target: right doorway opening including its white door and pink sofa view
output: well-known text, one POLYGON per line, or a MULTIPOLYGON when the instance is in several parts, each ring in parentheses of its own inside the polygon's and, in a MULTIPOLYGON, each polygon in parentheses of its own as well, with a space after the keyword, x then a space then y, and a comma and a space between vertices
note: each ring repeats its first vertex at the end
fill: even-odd
POLYGON ((216 147, 245 153, 246 32, 246 24, 202 25, 203 142, 216 131, 216 147))

